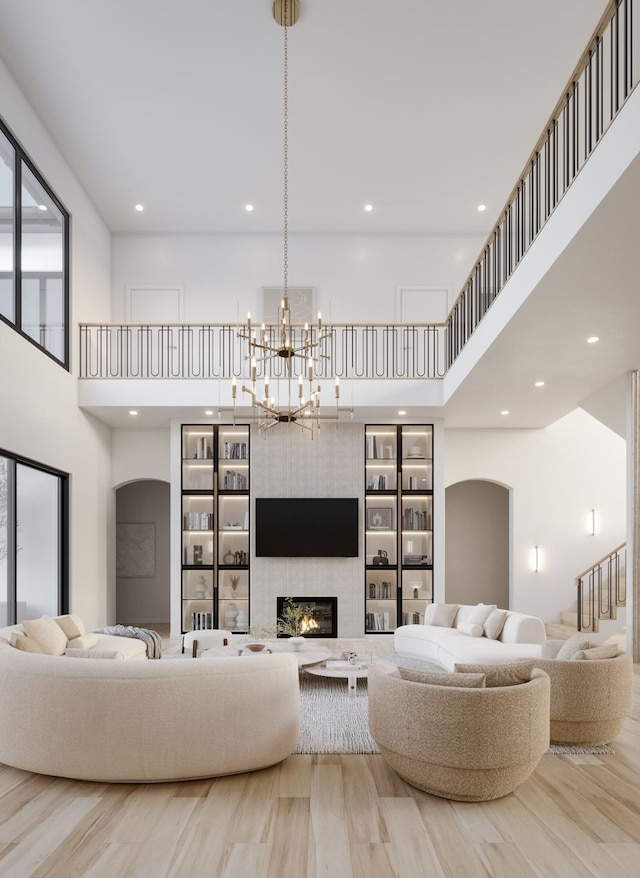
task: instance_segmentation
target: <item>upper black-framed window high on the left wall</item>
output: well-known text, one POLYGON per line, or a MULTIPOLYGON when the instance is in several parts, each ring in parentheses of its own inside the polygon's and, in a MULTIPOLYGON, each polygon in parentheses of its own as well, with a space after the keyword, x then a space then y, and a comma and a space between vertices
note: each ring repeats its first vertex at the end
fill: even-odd
POLYGON ((1 120, 0 319, 69 368, 69 214, 1 120))

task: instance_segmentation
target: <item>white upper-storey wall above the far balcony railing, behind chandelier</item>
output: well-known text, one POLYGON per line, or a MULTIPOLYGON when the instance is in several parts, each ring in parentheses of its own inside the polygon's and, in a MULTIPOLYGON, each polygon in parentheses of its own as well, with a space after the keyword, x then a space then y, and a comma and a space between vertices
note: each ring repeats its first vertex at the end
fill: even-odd
MULTIPOLYGON (((325 320, 392 322, 396 287, 441 286, 450 303, 478 255, 480 235, 289 235, 290 285, 316 287, 325 320)), ((282 285, 278 235, 115 235, 112 319, 128 286, 184 289, 187 323, 260 318, 260 290, 282 285)))

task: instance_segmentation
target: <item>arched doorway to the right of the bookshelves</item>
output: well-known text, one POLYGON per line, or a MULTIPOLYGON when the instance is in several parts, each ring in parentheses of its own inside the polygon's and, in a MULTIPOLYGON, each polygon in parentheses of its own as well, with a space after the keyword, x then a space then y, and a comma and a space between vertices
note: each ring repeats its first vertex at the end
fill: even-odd
POLYGON ((509 490, 469 479, 445 490, 448 603, 509 608, 509 490))

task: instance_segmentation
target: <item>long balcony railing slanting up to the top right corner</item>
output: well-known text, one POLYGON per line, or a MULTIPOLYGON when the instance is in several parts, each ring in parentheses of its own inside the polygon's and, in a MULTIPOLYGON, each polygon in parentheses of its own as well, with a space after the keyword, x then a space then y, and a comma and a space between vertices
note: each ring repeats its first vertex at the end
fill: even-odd
MULTIPOLYGON (((516 270, 638 82, 634 0, 612 0, 448 319, 447 368, 516 270)), ((636 17, 637 18, 637 17, 636 17)))

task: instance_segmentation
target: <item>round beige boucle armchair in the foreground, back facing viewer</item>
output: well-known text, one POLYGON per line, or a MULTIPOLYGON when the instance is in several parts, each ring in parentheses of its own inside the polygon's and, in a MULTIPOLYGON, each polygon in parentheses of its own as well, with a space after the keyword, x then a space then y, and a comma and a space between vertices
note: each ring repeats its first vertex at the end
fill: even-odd
POLYGON ((512 792, 549 746, 549 678, 460 688, 369 668, 369 729, 404 780, 445 799, 480 802, 512 792))

